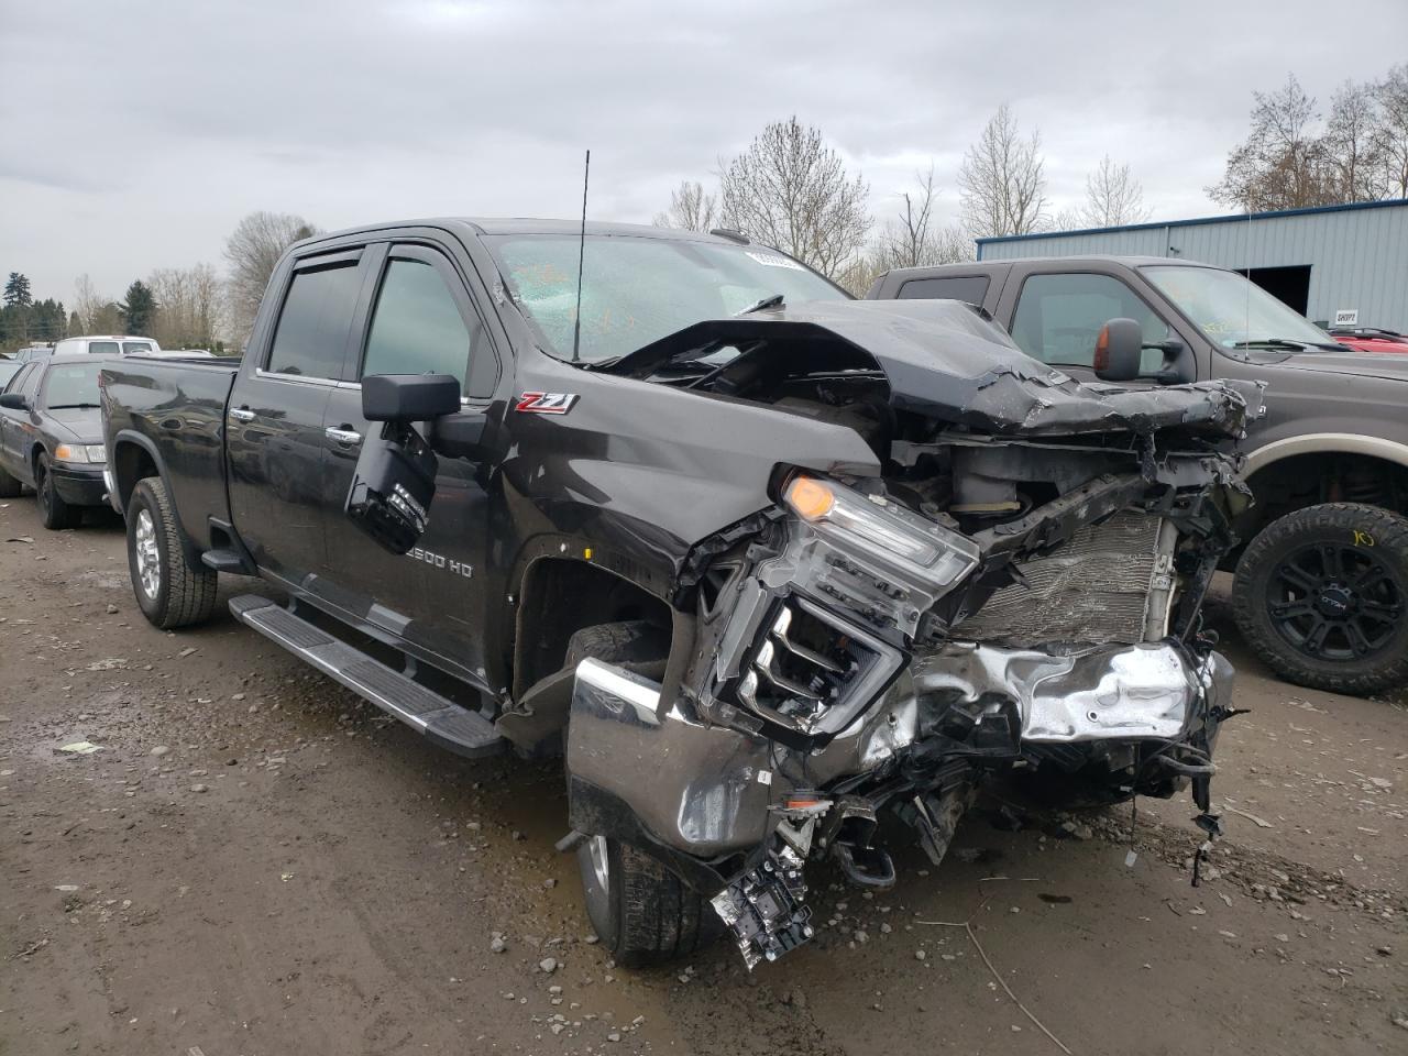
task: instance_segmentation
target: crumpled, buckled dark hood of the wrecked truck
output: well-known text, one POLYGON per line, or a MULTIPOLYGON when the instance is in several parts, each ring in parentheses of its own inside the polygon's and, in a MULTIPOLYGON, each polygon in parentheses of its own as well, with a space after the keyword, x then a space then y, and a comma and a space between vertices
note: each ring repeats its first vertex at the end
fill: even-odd
POLYGON ((1088 384, 1032 359, 959 301, 808 301, 697 322, 608 367, 646 377, 701 346, 769 341, 843 342, 874 362, 900 410, 994 434, 1074 435, 1162 428, 1235 436, 1260 407, 1239 382, 1126 387, 1088 384))

